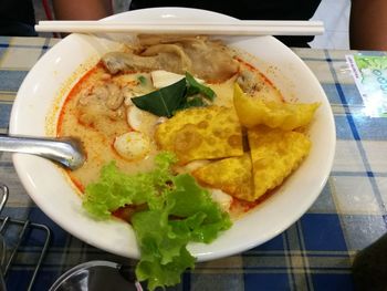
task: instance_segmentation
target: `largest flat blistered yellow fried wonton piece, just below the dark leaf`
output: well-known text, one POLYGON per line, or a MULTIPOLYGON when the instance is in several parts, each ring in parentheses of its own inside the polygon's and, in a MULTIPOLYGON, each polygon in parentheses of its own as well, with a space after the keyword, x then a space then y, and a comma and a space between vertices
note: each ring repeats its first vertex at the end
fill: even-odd
POLYGON ((161 149, 174 152, 180 165, 243 155, 241 125, 228 107, 180 111, 156 128, 155 139, 161 149))

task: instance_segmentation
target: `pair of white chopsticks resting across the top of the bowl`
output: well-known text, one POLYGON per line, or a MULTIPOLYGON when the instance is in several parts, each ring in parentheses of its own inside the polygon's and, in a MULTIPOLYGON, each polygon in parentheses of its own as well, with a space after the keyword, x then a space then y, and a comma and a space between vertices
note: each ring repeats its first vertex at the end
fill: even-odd
POLYGON ((39 21, 38 32, 130 32, 215 35, 317 35, 324 33, 322 21, 236 22, 111 22, 111 21, 39 21))

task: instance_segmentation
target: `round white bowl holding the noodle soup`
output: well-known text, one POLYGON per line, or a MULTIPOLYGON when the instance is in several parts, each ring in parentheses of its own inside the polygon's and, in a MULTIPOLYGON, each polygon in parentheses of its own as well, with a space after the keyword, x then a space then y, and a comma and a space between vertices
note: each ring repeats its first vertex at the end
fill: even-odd
MULTIPOLYGON (((136 10, 116 14, 105 21, 155 19, 236 21, 219 13, 182 8, 136 10)), ((322 105, 310 131, 313 141, 310 156, 273 196, 234 222, 232 228, 215 242, 189 245, 191 253, 201 261, 255 247, 280 235, 295 222, 310 208, 325 185, 335 150, 335 126, 331 106, 318 81, 300 58, 272 37, 233 38, 226 41, 254 54, 255 64, 282 91, 285 98, 296 97, 300 102, 318 101, 322 105)), ((76 82, 74 75, 79 77, 100 55, 115 45, 109 41, 81 34, 69 35, 54 45, 39 60, 22 83, 11 113, 10 133, 45 135, 46 124, 53 122, 48 116, 76 82)), ((62 228, 106 251, 130 258, 139 257, 130 226, 116 220, 91 219, 82 209, 81 199, 63 172, 55 165, 22 154, 15 154, 13 163, 29 195, 62 228)))

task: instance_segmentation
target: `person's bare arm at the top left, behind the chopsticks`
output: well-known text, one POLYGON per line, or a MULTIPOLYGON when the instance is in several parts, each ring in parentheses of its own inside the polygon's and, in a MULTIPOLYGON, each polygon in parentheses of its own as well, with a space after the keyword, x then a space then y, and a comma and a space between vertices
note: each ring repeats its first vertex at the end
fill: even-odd
POLYGON ((113 14, 113 0, 53 0, 56 20, 97 20, 113 14))

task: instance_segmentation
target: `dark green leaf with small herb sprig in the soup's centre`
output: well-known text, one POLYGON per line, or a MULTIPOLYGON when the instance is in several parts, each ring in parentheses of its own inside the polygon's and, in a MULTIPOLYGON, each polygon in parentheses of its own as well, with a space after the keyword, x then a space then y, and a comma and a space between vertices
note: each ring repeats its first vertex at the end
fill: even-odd
POLYGON ((186 72, 180 81, 150 92, 143 96, 133 97, 132 102, 140 110, 157 116, 171 117, 177 111, 196 106, 205 106, 203 97, 213 101, 215 92, 186 72))

